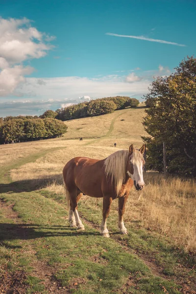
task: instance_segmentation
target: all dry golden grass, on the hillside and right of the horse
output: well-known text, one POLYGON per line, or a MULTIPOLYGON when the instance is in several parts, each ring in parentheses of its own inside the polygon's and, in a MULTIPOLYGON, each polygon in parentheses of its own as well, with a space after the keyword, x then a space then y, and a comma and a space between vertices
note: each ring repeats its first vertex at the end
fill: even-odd
MULTIPOLYGON (((14 181, 30 181, 32 186, 38 185, 63 194, 62 169, 71 158, 87 156, 102 159, 120 148, 128 148, 132 143, 135 147, 141 147, 140 136, 145 135, 141 124, 143 115, 143 109, 126 109, 93 119, 70 121, 67 123, 69 132, 62 138, 1 146, 3 156, 0 160, 9 164, 17 158, 47 148, 66 147, 11 172, 14 181), (80 126, 83 126, 83 130, 77 129, 80 126), (70 140, 80 136, 103 137, 81 142, 70 140), (116 148, 113 147, 114 142, 117 143, 116 148)), ((141 192, 132 188, 126 204, 125 221, 139 221, 147 229, 171 237, 174 244, 183 246, 185 251, 196 252, 196 182, 177 177, 165 179, 157 172, 147 172, 145 182, 146 187, 141 192)), ((85 196, 81 201, 88 201, 96 207, 101 199, 85 196)), ((116 210, 117 205, 118 201, 114 201, 112 210, 116 210)))

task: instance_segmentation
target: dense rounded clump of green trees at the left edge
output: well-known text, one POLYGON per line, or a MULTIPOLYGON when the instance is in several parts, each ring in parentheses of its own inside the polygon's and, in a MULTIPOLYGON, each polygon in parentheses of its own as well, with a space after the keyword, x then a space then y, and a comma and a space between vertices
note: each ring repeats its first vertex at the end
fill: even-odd
POLYGON ((0 143, 31 141, 62 136, 67 125, 52 118, 11 117, 0 119, 0 143))

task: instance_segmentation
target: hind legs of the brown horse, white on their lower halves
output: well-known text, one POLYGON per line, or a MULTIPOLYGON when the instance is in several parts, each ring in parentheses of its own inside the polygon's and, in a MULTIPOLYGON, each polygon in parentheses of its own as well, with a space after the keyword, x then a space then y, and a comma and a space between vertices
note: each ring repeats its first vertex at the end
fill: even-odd
POLYGON ((81 222, 78 215, 78 211, 77 211, 77 202, 79 201, 81 196, 82 196, 82 193, 79 190, 77 190, 77 192, 74 193, 74 195, 73 194, 70 195, 70 215, 72 217, 72 220, 74 218, 74 221, 75 221, 75 222, 73 221, 74 227, 76 226, 77 229, 84 230, 84 225, 81 222))

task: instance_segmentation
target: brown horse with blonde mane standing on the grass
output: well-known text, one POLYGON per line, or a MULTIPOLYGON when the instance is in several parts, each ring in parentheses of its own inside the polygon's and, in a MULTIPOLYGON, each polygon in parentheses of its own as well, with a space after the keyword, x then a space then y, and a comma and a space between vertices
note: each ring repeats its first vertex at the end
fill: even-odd
POLYGON ((100 225, 101 234, 110 237, 106 220, 112 200, 119 199, 119 229, 127 234, 123 222, 125 203, 133 184, 136 190, 142 190, 145 145, 140 150, 129 147, 98 160, 88 157, 75 157, 63 169, 67 204, 70 208, 71 227, 84 230, 77 212, 77 202, 83 194, 91 197, 103 197, 103 219, 100 225))

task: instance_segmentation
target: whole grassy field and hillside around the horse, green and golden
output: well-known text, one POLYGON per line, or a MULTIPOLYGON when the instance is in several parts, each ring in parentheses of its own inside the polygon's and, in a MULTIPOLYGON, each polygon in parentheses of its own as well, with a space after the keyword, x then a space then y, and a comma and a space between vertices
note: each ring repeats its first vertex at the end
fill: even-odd
POLYGON ((0 146, 0 293, 196 294, 194 181, 147 172, 126 204, 129 235, 118 232, 117 201, 109 239, 99 235, 101 199, 80 200, 84 232, 68 224, 64 165, 141 147, 143 116, 124 109, 66 122, 62 138, 0 146))

